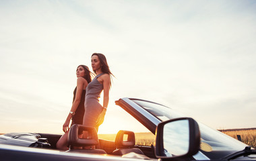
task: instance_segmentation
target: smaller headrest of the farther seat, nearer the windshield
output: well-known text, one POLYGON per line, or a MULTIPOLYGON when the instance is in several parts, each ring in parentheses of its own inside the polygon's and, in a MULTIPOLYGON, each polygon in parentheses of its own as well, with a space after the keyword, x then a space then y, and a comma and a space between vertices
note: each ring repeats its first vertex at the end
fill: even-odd
POLYGON ((133 131, 120 130, 115 139, 117 148, 129 148, 135 145, 135 134, 133 131), (123 136, 127 135, 127 140, 123 136))

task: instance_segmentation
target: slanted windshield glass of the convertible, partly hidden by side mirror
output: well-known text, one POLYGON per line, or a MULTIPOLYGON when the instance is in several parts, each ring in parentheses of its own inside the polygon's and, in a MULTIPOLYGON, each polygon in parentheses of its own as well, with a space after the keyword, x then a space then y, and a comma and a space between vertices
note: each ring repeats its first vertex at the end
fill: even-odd
MULTIPOLYGON (((140 107, 160 119, 160 121, 166 121, 168 119, 175 119, 179 117, 186 117, 185 115, 174 111, 170 107, 166 107, 164 105, 160 105, 158 103, 152 103, 149 101, 141 101, 141 100, 132 100, 137 103, 140 107)), ((220 131, 207 127, 202 123, 199 124, 199 129, 201 133, 201 152, 206 153, 207 156, 209 154, 214 154, 214 152, 220 151, 240 151, 244 150, 246 144, 227 136, 220 131), (209 153, 210 152, 210 153, 209 153)), ((211 157, 210 157, 211 158, 211 157)))

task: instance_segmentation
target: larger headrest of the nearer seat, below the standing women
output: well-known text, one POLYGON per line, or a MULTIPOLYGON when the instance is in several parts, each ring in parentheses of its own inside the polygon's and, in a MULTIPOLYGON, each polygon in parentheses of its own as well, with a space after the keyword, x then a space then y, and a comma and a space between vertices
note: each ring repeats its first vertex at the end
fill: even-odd
POLYGON ((72 125, 67 136, 68 146, 94 146, 98 144, 98 134, 95 127, 85 125, 72 125), (79 138, 78 133, 88 132, 88 138, 79 138))

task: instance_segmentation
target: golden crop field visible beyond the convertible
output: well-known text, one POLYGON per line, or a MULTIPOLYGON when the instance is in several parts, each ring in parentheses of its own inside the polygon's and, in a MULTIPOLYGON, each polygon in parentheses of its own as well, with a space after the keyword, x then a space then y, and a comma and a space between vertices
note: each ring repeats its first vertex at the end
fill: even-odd
MULTIPOLYGON (((236 140, 237 135, 241 136, 242 142, 249 146, 256 147, 256 128, 250 129, 222 129, 219 130, 236 140)), ((116 134, 98 134, 98 138, 104 140, 115 141, 116 134)), ((135 140, 137 145, 151 146, 154 144, 155 136, 152 133, 135 133, 135 140)))

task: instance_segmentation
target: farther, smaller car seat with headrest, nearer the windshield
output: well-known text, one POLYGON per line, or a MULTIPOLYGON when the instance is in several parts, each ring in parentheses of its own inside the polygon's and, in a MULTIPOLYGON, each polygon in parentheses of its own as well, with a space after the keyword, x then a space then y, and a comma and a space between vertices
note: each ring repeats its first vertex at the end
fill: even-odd
POLYGON ((117 150, 114 150, 114 155, 123 156, 130 152, 135 152, 136 154, 143 154, 139 148, 134 148, 135 145, 135 134, 133 131, 120 130, 115 138, 115 145, 117 150), (127 135, 127 140, 124 140, 124 135, 127 135))

